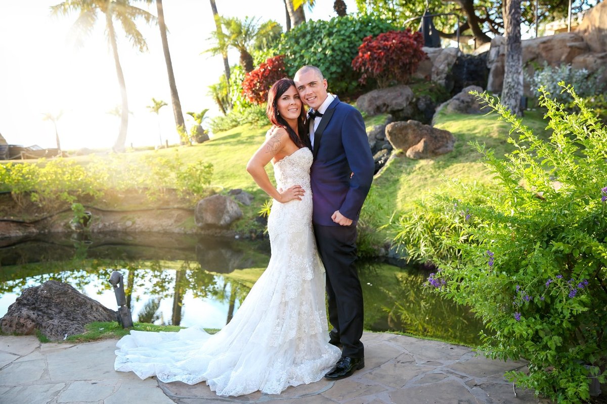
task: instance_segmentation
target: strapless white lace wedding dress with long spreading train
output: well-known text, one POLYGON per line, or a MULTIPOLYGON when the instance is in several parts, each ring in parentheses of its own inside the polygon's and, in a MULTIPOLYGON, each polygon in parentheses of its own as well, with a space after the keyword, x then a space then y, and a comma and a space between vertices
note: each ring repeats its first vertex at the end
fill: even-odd
POLYGON ((232 320, 217 334, 131 331, 117 343, 117 371, 141 379, 193 385, 205 381, 220 396, 317 382, 341 356, 328 343, 325 274, 312 230, 310 165, 300 148, 274 164, 277 187, 301 185, 302 200, 280 204, 268 217, 271 258, 232 320))

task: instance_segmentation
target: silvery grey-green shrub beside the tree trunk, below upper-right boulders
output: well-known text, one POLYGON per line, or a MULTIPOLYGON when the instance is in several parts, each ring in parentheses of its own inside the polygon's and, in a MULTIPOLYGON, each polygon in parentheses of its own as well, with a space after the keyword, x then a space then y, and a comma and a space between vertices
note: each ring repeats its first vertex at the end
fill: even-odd
POLYGON ((574 69, 571 64, 552 67, 544 62, 543 67, 535 70, 532 77, 527 76, 527 81, 531 83, 531 91, 535 96, 541 96, 540 87, 543 86, 557 102, 573 103, 571 94, 561 89, 558 83, 561 81, 569 83, 575 88, 578 96, 582 98, 594 96, 600 94, 605 88, 605 83, 601 80, 603 70, 604 68, 600 68, 598 71, 591 73, 585 68, 574 69))

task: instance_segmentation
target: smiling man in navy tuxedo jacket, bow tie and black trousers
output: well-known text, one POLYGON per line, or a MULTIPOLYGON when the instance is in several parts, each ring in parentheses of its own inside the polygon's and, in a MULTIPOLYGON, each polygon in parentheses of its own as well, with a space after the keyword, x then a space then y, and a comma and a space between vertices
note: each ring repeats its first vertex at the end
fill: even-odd
POLYGON ((362 290, 356 261, 356 221, 367 197, 375 165, 361 113, 327 93, 319 68, 304 66, 294 77, 308 105, 314 235, 327 273, 330 343, 342 357, 325 375, 343 379, 365 366, 362 290))

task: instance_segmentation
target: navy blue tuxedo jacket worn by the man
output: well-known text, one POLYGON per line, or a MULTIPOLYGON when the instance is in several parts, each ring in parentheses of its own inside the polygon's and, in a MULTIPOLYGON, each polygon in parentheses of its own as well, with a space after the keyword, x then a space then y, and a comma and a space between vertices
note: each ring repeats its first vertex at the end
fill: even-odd
POLYGON ((331 220, 339 210, 356 224, 375 170, 361 113, 336 96, 314 131, 313 155, 312 221, 339 226, 331 220))

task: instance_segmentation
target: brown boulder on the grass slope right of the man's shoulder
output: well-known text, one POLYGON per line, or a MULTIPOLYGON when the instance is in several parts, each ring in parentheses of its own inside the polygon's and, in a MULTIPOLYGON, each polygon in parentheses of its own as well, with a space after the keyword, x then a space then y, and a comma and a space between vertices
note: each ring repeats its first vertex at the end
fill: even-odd
POLYGON ((427 159, 453 150, 455 138, 450 131, 433 128, 418 121, 392 122, 385 128, 390 143, 406 152, 410 159, 427 159))

